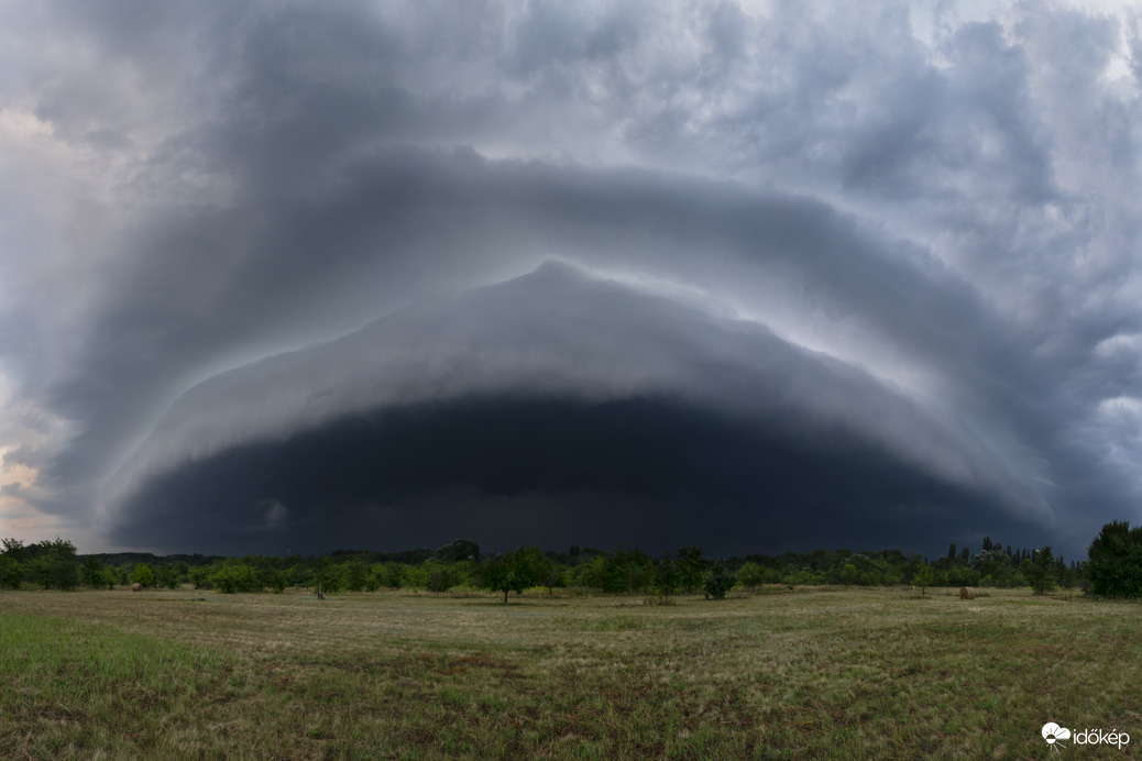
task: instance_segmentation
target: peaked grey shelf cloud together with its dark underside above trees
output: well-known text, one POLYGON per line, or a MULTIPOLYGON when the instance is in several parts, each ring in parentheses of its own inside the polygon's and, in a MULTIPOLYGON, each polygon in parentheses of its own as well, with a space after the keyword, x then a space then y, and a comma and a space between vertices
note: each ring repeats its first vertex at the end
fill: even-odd
POLYGON ((1049 520, 899 389, 554 262, 201 383, 113 484, 116 541, 209 544, 224 523, 241 527, 233 549, 463 527, 493 545, 664 547, 682 531, 745 551, 821 526, 874 542, 917 513, 958 532, 996 511, 1049 520))

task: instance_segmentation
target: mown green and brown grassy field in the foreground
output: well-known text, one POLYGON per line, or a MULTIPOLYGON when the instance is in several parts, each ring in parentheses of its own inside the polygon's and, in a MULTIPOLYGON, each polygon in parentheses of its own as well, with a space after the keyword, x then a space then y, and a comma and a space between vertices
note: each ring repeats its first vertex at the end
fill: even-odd
POLYGON ((0 593, 0 758, 1142 758, 1142 606, 0 593), (199 599, 204 598, 204 599, 199 599))

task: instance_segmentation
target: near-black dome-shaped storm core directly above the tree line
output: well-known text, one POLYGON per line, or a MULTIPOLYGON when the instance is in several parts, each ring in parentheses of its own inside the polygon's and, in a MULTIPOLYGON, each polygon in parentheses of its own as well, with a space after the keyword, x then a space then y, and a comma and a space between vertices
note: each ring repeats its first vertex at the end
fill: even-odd
POLYGON ((120 520, 126 544, 273 554, 435 547, 457 534, 488 550, 689 542, 711 553, 936 553, 974 543, 981 527, 1048 536, 864 442, 814 447, 671 398, 498 396, 354 415, 187 461, 148 480, 120 520))

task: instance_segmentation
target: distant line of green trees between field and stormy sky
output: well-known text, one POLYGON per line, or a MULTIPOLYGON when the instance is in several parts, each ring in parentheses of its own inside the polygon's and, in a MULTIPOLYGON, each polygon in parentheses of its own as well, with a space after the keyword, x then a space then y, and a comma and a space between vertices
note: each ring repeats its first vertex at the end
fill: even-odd
POLYGON ((948 548, 935 560, 900 550, 852 552, 817 550, 781 556, 750 554, 710 559, 699 547, 683 547, 661 557, 642 550, 613 551, 572 547, 568 552, 518 548, 482 556, 469 540, 456 540, 436 550, 403 552, 337 550, 324 556, 248 554, 223 557, 145 552, 80 556, 65 540, 24 545, 2 540, 0 586, 74 590, 80 586, 146 588, 218 592, 282 592, 287 588, 314 591, 376 591, 379 589, 490 590, 504 594, 526 589, 577 588, 603 593, 640 593, 668 601, 679 593, 722 599, 732 589, 755 591, 763 585, 904 585, 1030 586, 1046 593, 1056 586, 1089 589, 1107 597, 1142 598, 1142 527, 1107 524, 1094 540, 1089 559, 1069 564, 1052 548, 1012 549, 986 537, 979 552, 948 548))

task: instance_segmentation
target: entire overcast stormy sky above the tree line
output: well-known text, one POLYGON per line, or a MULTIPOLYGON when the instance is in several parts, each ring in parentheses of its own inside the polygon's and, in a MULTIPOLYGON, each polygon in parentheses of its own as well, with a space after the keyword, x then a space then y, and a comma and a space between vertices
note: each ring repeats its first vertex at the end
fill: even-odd
POLYGON ((0 535, 1078 559, 1142 520, 1119 5, 5 3, 0 535))

